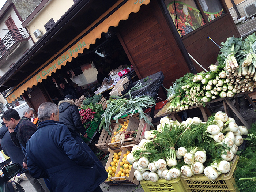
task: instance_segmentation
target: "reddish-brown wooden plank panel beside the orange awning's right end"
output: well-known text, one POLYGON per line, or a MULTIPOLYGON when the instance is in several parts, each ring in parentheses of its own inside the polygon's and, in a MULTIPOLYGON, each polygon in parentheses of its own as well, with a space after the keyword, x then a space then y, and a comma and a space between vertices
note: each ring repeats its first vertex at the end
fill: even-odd
POLYGON ((140 78, 162 71, 164 86, 189 72, 172 32, 156 2, 142 5, 117 27, 120 42, 140 78))

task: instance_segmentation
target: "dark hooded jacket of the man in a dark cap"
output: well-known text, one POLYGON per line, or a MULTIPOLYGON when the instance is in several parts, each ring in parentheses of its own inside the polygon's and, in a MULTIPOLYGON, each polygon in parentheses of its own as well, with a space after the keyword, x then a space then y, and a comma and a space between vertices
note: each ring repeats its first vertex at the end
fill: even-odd
POLYGON ((69 129, 72 129, 76 133, 86 133, 84 128, 81 116, 78 111, 78 107, 75 105, 75 102, 72 100, 64 100, 59 102, 59 120, 63 122, 69 129))

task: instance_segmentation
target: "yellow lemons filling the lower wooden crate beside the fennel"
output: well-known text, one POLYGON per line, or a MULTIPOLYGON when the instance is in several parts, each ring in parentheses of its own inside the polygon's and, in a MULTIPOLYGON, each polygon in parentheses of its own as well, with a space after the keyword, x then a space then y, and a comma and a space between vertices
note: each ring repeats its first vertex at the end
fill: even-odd
MULTIPOLYGON (((132 164, 130 164, 126 156, 131 153, 130 151, 126 151, 125 154, 121 157, 122 151, 119 151, 118 153, 115 152, 113 154, 113 159, 110 162, 110 166, 108 169, 106 169, 106 172, 108 172, 108 178, 106 181, 112 181, 111 177, 129 177, 130 170, 132 168, 132 164), (120 165, 120 170, 117 172, 118 164, 120 165)), ((124 178, 120 178, 120 180, 125 180, 124 178)))

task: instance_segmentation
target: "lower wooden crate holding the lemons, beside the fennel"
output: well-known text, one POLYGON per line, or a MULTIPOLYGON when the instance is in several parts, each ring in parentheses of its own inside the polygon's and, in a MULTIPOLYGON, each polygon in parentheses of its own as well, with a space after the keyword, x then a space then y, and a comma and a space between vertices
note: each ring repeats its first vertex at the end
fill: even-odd
MULTIPOLYGON (((127 151, 132 151, 132 147, 134 146, 135 144, 131 144, 131 145, 126 145, 126 146, 122 146, 120 147, 120 149, 122 150, 122 154, 121 154, 121 157, 124 157, 124 154, 127 152, 127 151)), ((121 158, 120 158, 121 159, 121 158)), ((118 163, 118 166, 117 166, 117 169, 116 169, 116 174, 120 171, 120 163, 118 163)), ((130 170, 130 173, 129 173, 129 177, 127 176, 123 176, 123 177, 111 177, 111 179, 113 181, 116 181, 118 184, 120 185, 139 185, 139 181, 135 178, 134 176, 134 172, 135 172, 135 169, 131 168, 130 170), (121 180, 120 180, 121 179, 121 180)))

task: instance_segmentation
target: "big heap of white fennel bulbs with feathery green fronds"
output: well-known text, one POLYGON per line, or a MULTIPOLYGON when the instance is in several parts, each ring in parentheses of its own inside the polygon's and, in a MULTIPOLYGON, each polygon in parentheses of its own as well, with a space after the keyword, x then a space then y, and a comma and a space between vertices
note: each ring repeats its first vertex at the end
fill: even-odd
POLYGON ((127 161, 133 163, 137 180, 171 180, 181 173, 186 177, 205 174, 216 180, 227 173, 231 161, 247 135, 244 126, 217 112, 207 122, 188 118, 178 122, 161 118, 157 130, 146 131, 145 139, 132 148, 127 161))

